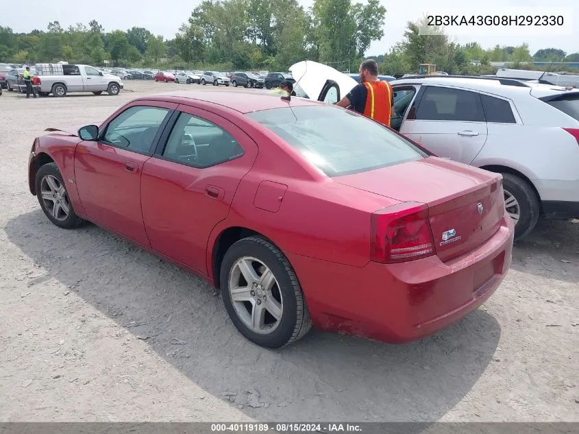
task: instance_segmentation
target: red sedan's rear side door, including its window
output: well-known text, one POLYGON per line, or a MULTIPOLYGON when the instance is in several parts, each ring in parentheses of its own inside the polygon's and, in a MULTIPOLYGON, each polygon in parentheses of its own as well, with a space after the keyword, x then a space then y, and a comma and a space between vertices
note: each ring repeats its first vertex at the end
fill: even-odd
POLYGON ((178 110, 171 133, 143 167, 143 219, 153 249, 207 274, 210 233, 227 217, 257 145, 217 114, 178 110))

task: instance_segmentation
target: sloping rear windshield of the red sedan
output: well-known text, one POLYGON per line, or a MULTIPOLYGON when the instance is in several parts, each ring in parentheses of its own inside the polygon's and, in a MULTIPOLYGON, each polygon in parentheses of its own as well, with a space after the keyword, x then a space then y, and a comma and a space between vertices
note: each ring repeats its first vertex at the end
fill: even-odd
POLYGON ((342 176, 426 157, 386 127, 333 106, 275 108, 248 113, 327 176, 342 176))

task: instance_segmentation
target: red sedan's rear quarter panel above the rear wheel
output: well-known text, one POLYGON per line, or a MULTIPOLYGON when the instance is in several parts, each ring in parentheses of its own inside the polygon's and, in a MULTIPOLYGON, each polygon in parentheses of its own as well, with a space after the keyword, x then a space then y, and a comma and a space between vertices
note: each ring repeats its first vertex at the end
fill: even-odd
MULTIPOLYGON (((263 234, 286 253, 363 267, 369 261, 371 213, 398 203, 332 181, 301 160, 293 148, 280 147, 271 138, 246 131, 260 147, 254 167, 241 180, 230 214, 213 230, 209 246, 223 230, 240 226, 263 234), (284 164, 280 165, 279 162, 284 164), (275 167, 275 170, 273 169, 275 167), (260 183, 287 186, 277 212, 256 206, 260 183)), ((277 207, 274 207, 277 209, 277 207)), ((208 249, 208 269, 212 269, 208 249)))

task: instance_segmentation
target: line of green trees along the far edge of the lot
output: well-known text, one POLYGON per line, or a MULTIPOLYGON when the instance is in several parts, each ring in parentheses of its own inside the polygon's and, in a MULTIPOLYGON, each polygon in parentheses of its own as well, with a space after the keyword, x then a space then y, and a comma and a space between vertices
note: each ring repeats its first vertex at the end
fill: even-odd
MULTIPOLYGON (((52 21, 47 29, 26 34, 0 27, 0 62, 286 71, 308 59, 356 72, 371 43, 384 36, 385 14, 379 0, 315 0, 307 10, 297 0, 203 0, 172 39, 143 27, 106 31, 96 20, 68 28, 52 21)), ((532 61, 579 62, 579 53, 556 48, 531 54, 526 44, 490 49, 476 42, 460 45, 443 29, 421 35, 421 25, 423 20, 409 22, 402 40, 374 57, 382 73, 416 72, 420 63, 434 63, 447 73, 479 75, 495 72, 489 62, 510 61, 515 67, 532 61)))

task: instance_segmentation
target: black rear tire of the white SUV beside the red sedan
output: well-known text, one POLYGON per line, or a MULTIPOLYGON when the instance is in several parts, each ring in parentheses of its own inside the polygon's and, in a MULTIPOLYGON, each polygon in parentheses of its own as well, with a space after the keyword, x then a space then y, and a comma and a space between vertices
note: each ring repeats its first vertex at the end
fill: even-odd
POLYGON ((532 186, 522 178, 510 173, 502 173, 502 176, 506 195, 509 193, 513 195, 519 204, 519 221, 515 224, 515 239, 523 239, 539 221, 541 213, 539 197, 532 186))

